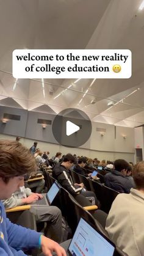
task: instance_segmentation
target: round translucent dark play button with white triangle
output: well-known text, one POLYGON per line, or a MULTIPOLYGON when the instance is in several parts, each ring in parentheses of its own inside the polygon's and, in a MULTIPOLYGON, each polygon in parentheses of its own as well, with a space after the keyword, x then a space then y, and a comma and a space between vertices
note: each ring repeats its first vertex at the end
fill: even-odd
POLYGON ((69 108, 61 111, 52 122, 52 133, 60 145, 80 147, 92 133, 92 123, 85 112, 69 108))

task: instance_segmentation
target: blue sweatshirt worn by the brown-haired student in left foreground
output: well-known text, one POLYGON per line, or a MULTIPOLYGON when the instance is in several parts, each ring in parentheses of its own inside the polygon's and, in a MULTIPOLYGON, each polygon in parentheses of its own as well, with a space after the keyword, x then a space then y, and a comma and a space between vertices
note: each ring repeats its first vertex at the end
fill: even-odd
POLYGON ((0 201, 0 255, 23 256, 23 249, 38 247, 41 233, 12 224, 0 201))

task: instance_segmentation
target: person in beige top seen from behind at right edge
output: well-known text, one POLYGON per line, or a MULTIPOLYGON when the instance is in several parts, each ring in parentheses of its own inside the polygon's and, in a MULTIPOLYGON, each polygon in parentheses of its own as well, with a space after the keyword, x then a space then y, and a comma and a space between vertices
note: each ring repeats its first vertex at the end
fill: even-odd
POLYGON ((129 256, 144 252, 144 161, 132 170, 136 189, 119 194, 112 203, 106 221, 106 231, 113 243, 129 256))

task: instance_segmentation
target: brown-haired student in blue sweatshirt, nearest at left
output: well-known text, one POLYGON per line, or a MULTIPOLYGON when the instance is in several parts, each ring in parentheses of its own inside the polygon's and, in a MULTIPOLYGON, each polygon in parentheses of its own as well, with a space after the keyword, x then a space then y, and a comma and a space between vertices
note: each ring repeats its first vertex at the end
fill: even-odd
POLYGON ((41 247, 46 256, 55 251, 59 256, 66 256, 65 251, 56 242, 41 233, 12 224, 6 218, 4 205, 6 200, 18 190, 24 175, 35 171, 35 158, 26 147, 16 141, 0 141, 0 255, 26 255, 23 249, 41 247))

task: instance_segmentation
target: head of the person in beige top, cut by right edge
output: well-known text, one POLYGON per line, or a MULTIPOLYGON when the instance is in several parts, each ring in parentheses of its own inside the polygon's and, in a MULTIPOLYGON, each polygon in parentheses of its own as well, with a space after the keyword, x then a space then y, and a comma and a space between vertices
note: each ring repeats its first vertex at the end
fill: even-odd
POLYGON ((132 169, 132 177, 136 188, 144 192, 144 161, 135 164, 134 169, 132 169))

